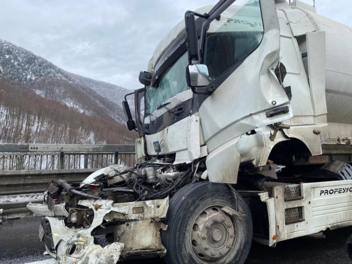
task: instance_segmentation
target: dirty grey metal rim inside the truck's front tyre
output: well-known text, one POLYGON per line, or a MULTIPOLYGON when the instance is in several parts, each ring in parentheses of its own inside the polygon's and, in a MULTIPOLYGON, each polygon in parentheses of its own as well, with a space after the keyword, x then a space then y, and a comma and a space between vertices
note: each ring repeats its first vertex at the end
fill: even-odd
POLYGON ((225 260, 236 241, 236 227, 222 206, 205 208, 191 228, 191 248, 201 262, 225 260))

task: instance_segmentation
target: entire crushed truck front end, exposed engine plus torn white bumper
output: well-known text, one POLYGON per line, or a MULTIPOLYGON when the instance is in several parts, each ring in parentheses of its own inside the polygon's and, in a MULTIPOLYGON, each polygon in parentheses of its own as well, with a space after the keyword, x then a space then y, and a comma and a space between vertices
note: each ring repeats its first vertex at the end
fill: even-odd
POLYGON ((111 165, 97 170, 81 183, 52 181, 44 193, 44 204, 30 203, 28 208, 46 216, 41 221, 40 238, 47 252, 58 260, 69 262, 78 257, 79 243, 111 257, 108 248, 99 245, 102 239, 106 241, 102 245, 108 243, 120 251, 117 258, 120 254, 121 257, 162 255, 165 248, 161 243, 151 245, 143 239, 133 241, 125 236, 131 230, 135 230, 134 233, 140 228, 145 230, 145 225, 151 232, 146 238, 159 236, 158 230, 164 228, 160 220, 166 217, 169 197, 183 186, 199 180, 199 171, 205 170, 204 161, 174 165, 171 158, 166 158, 134 167, 111 165), (83 230, 85 233, 79 235, 83 230), (69 233, 67 237, 55 235, 65 232, 69 233), (79 242, 82 237, 84 242, 79 242), (136 245, 139 250, 135 250, 136 245))

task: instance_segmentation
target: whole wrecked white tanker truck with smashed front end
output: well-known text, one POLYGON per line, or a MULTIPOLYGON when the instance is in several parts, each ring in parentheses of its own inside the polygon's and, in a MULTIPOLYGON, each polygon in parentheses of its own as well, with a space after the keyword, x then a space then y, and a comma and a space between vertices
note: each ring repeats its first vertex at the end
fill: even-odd
POLYGON ((28 205, 59 262, 243 263, 252 239, 352 225, 352 29, 298 1, 233 3, 186 12, 140 73, 134 167, 28 205))

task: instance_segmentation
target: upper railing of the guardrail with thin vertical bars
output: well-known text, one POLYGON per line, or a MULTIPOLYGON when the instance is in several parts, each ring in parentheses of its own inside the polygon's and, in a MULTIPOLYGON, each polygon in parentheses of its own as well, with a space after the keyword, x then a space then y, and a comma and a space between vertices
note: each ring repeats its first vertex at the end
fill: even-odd
POLYGON ((0 144, 0 170, 101 168, 134 163, 134 145, 0 144))

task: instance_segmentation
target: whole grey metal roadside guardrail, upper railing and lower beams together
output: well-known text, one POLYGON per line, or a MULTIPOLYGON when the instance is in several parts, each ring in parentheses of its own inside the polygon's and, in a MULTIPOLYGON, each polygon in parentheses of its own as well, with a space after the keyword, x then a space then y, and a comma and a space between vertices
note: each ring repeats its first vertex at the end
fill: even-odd
MULTIPOLYGON (((41 193, 51 180, 81 182, 101 167, 135 162, 134 145, 0 144, 0 195, 41 193)), ((26 204, 0 203, 0 209, 28 213, 26 204)))

